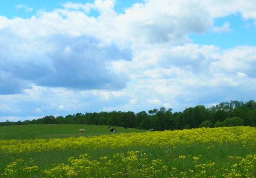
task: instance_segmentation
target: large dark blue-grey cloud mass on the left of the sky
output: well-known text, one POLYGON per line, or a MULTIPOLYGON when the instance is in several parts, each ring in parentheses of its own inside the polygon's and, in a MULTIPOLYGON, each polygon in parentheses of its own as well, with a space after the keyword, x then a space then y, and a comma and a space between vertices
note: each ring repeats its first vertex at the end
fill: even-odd
MULTIPOLYGON (((41 20, 31 18, 21 21, 24 24, 29 21, 40 24, 41 20)), ((17 19, 13 21, 20 23, 17 19)), ((1 30, 5 33, 0 42, 1 85, 4 86, 3 89, 0 87, 1 94, 20 93, 29 83, 73 89, 116 90, 125 87, 129 81, 127 75, 111 69, 112 61, 131 60, 129 49, 114 43, 104 45, 100 39, 88 35, 48 34, 42 39, 40 36, 44 33, 39 30, 38 34, 31 32, 35 35, 33 38, 24 29, 24 24, 19 31, 13 31, 12 24, 1 30), (29 42, 26 37, 30 38, 29 42), (14 82, 18 79, 19 82, 14 82)))

